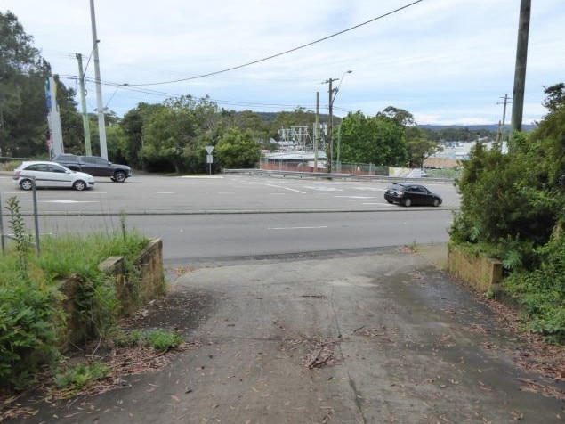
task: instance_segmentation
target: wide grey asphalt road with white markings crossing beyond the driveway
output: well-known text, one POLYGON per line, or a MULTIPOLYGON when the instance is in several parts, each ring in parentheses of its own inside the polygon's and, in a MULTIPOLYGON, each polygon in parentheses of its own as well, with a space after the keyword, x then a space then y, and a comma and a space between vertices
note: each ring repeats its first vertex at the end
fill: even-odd
MULTIPOLYGON (((92 191, 37 191, 42 233, 119 231, 125 222, 164 241, 169 263, 442 243, 459 198, 452 184, 423 180, 440 208, 403 208, 383 199, 388 183, 249 175, 136 175, 97 178, 92 191)), ((0 175, 5 202, 24 214, 33 197, 0 175)), ((33 228, 27 216, 29 228, 33 228)))

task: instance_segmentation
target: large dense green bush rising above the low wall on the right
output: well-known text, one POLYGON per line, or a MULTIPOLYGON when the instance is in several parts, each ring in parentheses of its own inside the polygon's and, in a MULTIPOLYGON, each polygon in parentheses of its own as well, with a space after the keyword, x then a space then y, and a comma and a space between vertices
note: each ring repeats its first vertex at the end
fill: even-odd
MULTIPOLYGON (((551 100, 561 92, 553 86, 545 93, 551 100)), ((491 246, 503 259, 519 257, 514 262, 526 268, 538 265, 532 249, 550 240, 565 215, 565 108, 560 102, 547 104, 552 109, 536 131, 513 134, 508 154, 487 151, 480 143, 473 148, 457 182, 462 200, 452 240, 491 246)))

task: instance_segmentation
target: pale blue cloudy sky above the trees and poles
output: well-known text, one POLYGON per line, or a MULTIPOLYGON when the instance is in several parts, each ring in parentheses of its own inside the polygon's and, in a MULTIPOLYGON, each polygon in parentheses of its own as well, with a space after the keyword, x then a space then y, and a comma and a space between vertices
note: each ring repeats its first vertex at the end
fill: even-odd
MULTIPOLYGON (((391 105, 418 124, 497 123, 504 94, 513 94, 520 0, 422 0, 393 12, 413 1, 95 0, 103 103, 122 116, 140 102, 190 94, 277 112, 315 110, 319 92, 327 113, 323 81, 343 77, 334 83, 343 83, 337 116, 391 105)), ((0 0, 0 11, 18 17, 66 86, 77 88, 75 53, 83 54, 94 111, 89 0, 0 0)), ((560 82, 565 1, 533 0, 525 124, 545 115, 544 86, 560 82)))

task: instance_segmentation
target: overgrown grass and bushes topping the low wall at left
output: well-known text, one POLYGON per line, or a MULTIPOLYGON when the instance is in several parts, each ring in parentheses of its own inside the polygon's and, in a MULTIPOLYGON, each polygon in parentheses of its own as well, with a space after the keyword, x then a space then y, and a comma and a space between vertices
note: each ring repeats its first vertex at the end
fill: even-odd
POLYGON ((20 390, 33 382, 42 365, 52 365, 69 318, 62 310, 60 281, 81 281, 75 297, 85 337, 103 334, 115 322, 117 298, 112 279, 98 269, 110 256, 123 256, 135 277, 133 258, 148 239, 136 232, 65 235, 42 239, 42 253, 8 249, 0 257, 0 386, 20 390))

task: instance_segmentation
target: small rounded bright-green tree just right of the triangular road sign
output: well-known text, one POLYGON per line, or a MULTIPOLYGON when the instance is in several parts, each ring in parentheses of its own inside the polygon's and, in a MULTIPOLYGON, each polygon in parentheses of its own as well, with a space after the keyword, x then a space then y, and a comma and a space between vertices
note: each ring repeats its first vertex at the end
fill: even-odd
POLYGON ((218 142, 215 153, 222 167, 249 168, 258 162, 261 146, 250 132, 231 128, 218 142))

